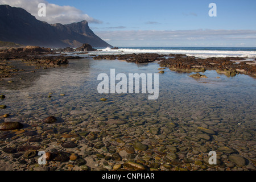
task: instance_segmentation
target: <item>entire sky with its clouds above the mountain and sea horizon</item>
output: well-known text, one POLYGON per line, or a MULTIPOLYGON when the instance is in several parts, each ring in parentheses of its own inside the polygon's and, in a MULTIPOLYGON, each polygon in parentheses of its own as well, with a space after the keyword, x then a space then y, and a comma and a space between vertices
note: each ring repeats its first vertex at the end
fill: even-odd
POLYGON ((94 33, 118 47, 256 47, 255 0, 0 0, 37 19, 88 20, 94 33), (46 3, 46 17, 38 4, 46 3), (210 17, 210 3, 217 16, 210 17))

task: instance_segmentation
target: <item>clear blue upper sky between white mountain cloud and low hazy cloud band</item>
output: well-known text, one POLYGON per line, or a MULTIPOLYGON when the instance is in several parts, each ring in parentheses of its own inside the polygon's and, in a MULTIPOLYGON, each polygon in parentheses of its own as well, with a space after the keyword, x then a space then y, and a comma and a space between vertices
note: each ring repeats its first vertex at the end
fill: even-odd
POLYGON ((90 25, 96 28, 122 26, 125 30, 193 30, 199 28, 256 30, 255 0, 51 0, 48 2, 62 6, 75 6, 89 16, 101 20, 103 24, 90 25), (217 5, 217 17, 208 16, 210 10, 208 6, 212 2, 217 5))

